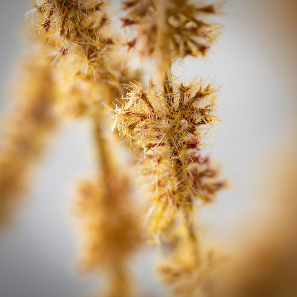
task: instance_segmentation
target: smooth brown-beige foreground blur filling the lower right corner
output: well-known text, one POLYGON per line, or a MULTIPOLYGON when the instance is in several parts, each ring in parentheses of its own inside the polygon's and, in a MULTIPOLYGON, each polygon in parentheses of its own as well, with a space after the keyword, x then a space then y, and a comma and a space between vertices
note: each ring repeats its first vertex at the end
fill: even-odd
POLYGON ((211 296, 297 296, 297 159, 294 146, 287 147, 258 167, 258 198, 267 203, 267 212, 242 230, 211 296))

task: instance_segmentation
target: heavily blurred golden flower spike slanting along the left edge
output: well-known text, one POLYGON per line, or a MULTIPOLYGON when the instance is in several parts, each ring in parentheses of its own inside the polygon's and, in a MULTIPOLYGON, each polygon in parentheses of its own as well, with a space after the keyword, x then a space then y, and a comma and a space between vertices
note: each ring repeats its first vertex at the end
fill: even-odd
POLYGON ((31 55, 19 59, 24 69, 12 84, 17 100, 1 141, 0 227, 7 223, 26 189, 28 173, 57 121, 50 59, 40 54, 38 46, 31 51, 31 55))

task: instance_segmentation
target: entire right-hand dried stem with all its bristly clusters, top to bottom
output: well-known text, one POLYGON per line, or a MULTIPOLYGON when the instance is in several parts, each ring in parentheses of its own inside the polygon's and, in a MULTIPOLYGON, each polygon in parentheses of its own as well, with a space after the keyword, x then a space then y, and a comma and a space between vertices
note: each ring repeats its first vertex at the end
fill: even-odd
POLYGON ((151 177, 149 235, 154 241, 170 241, 160 273, 173 284, 175 296, 199 296, 212 265, 198 248, 195 205, 210 203, 225 186, 201 153, 203 138, 218 121, 217 89, 202 81, 178 82, 171 65, 189 54, 206 53, 217 34, 203 18, 217 11, 212 5, 174 0, 129 1, 125 9, 124 26, 137 26, 137 36, 128 45, 142 42, 140 53, 156 57, 158 83, 147 90, 131 86, 124 106, 116 108, 114 128, 144 150, 143 166, 151 177))

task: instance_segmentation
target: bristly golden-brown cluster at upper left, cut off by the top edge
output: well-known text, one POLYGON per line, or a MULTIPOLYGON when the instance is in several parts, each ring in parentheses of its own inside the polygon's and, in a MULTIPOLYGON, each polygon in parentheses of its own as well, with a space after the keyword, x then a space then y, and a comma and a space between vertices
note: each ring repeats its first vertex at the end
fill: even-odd
POLYGON ((55 69, 53 78, 63 115, 77 117, 100 112, 102 101, 110 106, 126 92, 123 84, 140 79, 139 71, 133 71, 128 60, 119 55, 119 46, 102 4, 99 0, 34 3, 34 16, 42 19, 40 29, 45 30, 47 13, 55 11, 50 14, 45 42, 55 69), (66 26, 61 19, 70 18, 72 10, 76 21, 69 19, 69 26, 66 26), (71 33, 65 34, 64 29, 59 29, 63 26, 71 33), (63 38, 59 35, 61 32, 64 32, 63 38))

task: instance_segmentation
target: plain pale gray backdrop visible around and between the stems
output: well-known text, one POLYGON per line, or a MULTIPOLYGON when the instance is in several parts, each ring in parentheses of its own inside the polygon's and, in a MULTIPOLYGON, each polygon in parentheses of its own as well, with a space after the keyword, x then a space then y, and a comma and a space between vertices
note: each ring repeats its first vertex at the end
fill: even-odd
MULTIPOLYGON (((23 50, 18 28, 29 1, 1 1, 1 101, 23 50)), ((296 1, 228 1, 220 21, 225 35, 204 62, 181 63, 177 75, 216 77, 222 84, 218 105, 223 121, 213 135, 212 157, 223 164, 233 185, 219 195, 217 205, 203 211, 209 237, 230 245, 238 226, 249 225, 260 211, 256 172, 261 158, 274 147, 296 146, 296 1)), ((2 113, 3 114, 3 113, 2 113)), ((45 157, 32 174, 31 191, 20 206, 14 225, 0 241, 1 297, 78 297, 97 288, 97 278, 77 273, 71 189, 94 165, 91 132, 85 122, 61 125, 45 157)), ((275 156, 277 158, 277 156, 275 156)), ((271 158, 273 164, 274 159, 271 158)), ((265 169, 265 168, 264 168, 265 169)), ((277 168, 275 169, 277 170, 277 168)), ((265 171, 265 170, 264 170, 265 171)), ((154 296, 163 292, 151 277, 153 261, 146 252, 135 258, 140 286, 154 296)))

